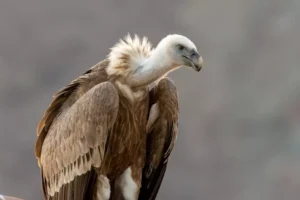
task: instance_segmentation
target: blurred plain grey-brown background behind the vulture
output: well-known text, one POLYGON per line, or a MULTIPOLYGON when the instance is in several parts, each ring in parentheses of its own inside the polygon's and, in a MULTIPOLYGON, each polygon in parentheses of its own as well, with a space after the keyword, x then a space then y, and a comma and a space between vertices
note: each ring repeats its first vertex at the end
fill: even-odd
POLYGON ((130 32, 183 34, 205 61, 170 75, 180 133, 157 199, 299 199, 299 0, 1 0, 0 27, 1 194, 42 199, 38 121, 130 32))

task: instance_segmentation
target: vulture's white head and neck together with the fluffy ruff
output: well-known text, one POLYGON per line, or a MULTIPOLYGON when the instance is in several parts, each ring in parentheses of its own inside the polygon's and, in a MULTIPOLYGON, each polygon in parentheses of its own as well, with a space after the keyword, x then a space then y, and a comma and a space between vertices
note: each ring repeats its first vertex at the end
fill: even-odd
POLYGON ((150 84, 179 67, 199 72, 203 65, 196 45, 177 34, 164 37, 156 48, 152 48, 146 37, 127 35, 111 49, 108 59, 107 74, 119 77, 131 87, 150 84))

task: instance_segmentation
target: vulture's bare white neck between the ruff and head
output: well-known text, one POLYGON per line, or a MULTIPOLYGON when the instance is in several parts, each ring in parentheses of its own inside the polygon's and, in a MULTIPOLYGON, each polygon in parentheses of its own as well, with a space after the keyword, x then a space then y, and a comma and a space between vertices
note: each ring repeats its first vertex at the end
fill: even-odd
POLYGON ((165 55, 166 54, 161 53, 159 49, 155 49, 152 55, 144 60, 133 72, 129 80, 130 86, 142 87, 149 85, 160 79, 169 71, 179 67, 172 64, 170 59, 165 55))

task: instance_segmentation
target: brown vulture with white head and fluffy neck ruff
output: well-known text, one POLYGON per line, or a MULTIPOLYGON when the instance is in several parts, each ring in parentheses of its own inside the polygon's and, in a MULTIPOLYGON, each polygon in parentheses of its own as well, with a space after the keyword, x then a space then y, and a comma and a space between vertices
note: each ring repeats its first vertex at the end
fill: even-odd
POLYGON ((185 36, 153 48, 128 34, 58 91, 37 127, 44 198, 156 199, 178 133, 177 89, 166 76, 202 65, 185 36))

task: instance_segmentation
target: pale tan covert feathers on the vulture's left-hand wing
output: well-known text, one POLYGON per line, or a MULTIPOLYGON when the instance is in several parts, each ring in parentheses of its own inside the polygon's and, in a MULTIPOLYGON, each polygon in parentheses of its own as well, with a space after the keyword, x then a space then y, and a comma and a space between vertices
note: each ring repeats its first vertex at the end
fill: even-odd
POLYGON ((53 121, 41 151, 48 194, 54 195, 63 184, 92 167, 100 167, 118 105, 115 87, 104 82, 94 86, 53 121))

